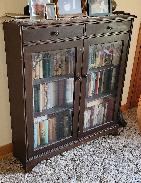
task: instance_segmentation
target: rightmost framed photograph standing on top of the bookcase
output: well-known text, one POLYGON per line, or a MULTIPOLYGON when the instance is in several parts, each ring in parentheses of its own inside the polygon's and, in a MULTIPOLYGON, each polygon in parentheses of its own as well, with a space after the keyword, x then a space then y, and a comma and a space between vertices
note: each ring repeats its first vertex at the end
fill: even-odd
POLYGON ((112 12, 111 0, 88 0, 89 16, 105 16, 112 12))

